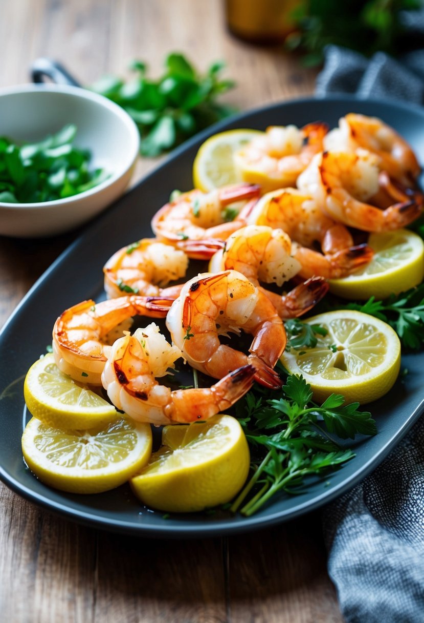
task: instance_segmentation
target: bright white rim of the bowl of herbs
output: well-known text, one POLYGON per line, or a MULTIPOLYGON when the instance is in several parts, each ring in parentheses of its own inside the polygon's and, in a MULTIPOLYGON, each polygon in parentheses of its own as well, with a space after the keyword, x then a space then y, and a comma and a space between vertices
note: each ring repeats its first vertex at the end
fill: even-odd
MULTIPOLYGON (((9 95, 19 95, 20 93, 62 93, 63 95, 69 95, 70 97, 81 98, 83 100, 89 100, 96 105, 102 106, 110 110, 116 117, 118 117, 123 125, 129 130, 131 135, 131 143, 129 142, 127 159, 124 162, 124 166, 121 166, 117 171, 111 173, 108 179, 90 188, 88 191, 78 193, 71 197, 63 197, 63 199, 53 199, 52 201, 40 201, 40 202, 28 202, 28 203, 7 203, 0 201, 0 208, 7 209, 42 209, 52 208, 55 206, 63 206, 66 204, 72 204, 81 199, 86 199, 94 194, 101 193, 109 186, 112 186, 116 181, 122 178, 127 171, 129 171, 136 162, 137 156, 140 150, 140 135, 137 125, 129 114, 118 104, 108 100, 104 95, 90 91, 83 87, 74 87, 71 85, 58 85, 55 83, 41 83, 41 84, 22 84, 14 87, 2 87, 0 88, 0 98, 7 97, 9 95)), ((90 147, 88 147, 90 149, 90 147)))

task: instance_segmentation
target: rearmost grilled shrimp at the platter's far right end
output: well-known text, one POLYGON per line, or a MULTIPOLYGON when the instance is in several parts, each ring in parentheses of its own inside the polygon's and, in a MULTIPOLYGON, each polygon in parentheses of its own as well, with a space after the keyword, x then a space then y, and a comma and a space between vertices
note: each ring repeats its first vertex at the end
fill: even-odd
POLYGON ((380 169, 391 178, 411 186, 421 167, 411 146, 393 128, 377 117, 349 113, 339 120, 339 127, 324 139, 327 151, 356 151, 363 148, 376 154, 380 169))

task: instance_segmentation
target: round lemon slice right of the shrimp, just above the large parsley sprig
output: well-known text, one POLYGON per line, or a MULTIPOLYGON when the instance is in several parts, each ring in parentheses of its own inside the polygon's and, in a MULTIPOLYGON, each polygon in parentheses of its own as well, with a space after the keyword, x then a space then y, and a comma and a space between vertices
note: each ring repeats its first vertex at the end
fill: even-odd
POLYGON ((377 400, 394 384, 400 369, 400 341, 382 320, 366 313, 343 310, 304 321, 328 331, 315 348, 290 348, 283 366, 302 374, 316 401, 342 394, 346 402, 377 400))

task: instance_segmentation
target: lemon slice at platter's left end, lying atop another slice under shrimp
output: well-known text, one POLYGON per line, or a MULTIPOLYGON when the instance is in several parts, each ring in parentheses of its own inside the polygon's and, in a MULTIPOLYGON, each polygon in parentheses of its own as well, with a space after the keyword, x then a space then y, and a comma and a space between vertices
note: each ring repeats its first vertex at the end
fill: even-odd
POLYGON ((63 374, 51 353, 35 361, 24 383, 30 413, 49 426, 89 429, 116 418, 116 409, 83 383, 63 374))

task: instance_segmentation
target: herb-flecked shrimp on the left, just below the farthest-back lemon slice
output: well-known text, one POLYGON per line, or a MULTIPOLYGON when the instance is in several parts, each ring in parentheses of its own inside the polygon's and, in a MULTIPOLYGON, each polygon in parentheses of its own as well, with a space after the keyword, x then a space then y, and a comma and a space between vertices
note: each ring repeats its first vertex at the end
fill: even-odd
MULTIPOLYGON (((178 242, 181 240, 226 240, 230 234, 246 224, 245 215, 260 194, 254 184, 224 186, 210 193, 195 189, 180 194, 177 199, 162 207, 152 219, 152 229, 159 238, 178 242), (242 209, 233 206, 240 201, 242 209)), ((199 257, 190 251, 189 257, 199 257)), ((210 257, 210 256, 209 256, 210 257)))

